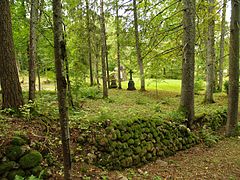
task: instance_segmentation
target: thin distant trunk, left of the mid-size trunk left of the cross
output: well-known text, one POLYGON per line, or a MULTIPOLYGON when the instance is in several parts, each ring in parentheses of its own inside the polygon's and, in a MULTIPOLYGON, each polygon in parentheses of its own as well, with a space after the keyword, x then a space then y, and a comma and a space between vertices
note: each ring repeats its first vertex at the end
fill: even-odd
POLYGON ((87 36, 88 36, 88 63, 89 63, 89 75, 90 75, 90 86, 94 85, 93 82, 93 68, 92 68, 92 48, 91 48, 91 27, 90 27, 90 17, 89 17, 89 3, 86 0, 87 8, 87 36))

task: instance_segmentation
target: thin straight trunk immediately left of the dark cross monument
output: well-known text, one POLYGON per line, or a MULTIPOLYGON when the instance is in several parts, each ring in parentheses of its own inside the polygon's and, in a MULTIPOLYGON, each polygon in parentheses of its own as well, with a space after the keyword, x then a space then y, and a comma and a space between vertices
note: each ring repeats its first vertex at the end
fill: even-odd
POLYGON ((117 33, 117 65, 118 65, 118 89, 122 89, 121 83, 121 63, 120 63, 120 39, 119 39, 119 14, 118 1, 116 1, 116 33, 117 33))

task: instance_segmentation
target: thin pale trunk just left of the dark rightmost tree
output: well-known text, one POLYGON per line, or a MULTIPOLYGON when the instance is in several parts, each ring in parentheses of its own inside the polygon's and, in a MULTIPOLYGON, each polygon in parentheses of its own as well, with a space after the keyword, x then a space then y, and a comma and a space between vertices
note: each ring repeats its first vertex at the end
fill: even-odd
POLYGON ((226 6, 227 0, 223 0, 222 22, 221 22, 221 40, 220 40, 220 57, 219 57, 219 82, 218 90, 222 92, 223 86, 223 62, 224 62, 224 41, 225 41, 225 24, 226 24, 226 6))

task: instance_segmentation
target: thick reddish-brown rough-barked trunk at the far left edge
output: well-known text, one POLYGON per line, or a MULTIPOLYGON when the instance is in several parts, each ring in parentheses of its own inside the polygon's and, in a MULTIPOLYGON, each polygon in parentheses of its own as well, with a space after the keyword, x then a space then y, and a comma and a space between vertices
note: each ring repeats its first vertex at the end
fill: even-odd
POLYGON ((15 59, 8 0, 0 1, 0 81, 2 108, 18 108, 22 106, 22 89, 15 59))

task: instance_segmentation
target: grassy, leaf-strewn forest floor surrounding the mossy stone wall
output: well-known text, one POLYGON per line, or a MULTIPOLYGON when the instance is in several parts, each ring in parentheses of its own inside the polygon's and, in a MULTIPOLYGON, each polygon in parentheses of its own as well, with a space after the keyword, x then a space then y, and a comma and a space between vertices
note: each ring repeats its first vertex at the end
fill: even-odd
MULTIPOLYGON (((42 94, 38 110, 39 117, 16 118, 1 115, 0 146, 16 131, 24 131, 31 138, 32 144, 40 143, 41 148, 47 148, 56 162, 50 168, 53 179, 62 179, 62 158, 60 127, 57 121, 57 101, 55 93, 42 94), (4 137, 4 139, 3 139, 4 137)), ((158 159, 139 168, 123 171, 108 171, 81 161, 78 154, 78 127, 87 127, 92 121, 111 119, 124 120, 128 117, 146 116, 160 113, 166 117, 175 114, 179 103, 176 92, 154 91, 129 92, 125 90, 110 90, 110 98, 81 99, 79 110, 70 110, 71 147, 75 162, 73 163, 73 179, 240 179, 240 138, 223 138, 213 147, 199 144, 191 149, 177 152, 174 156, 158 159), (80 123, 79 123, 80 122, 80 123)), ((215 107, 225 108, 226 94, 215 95, 216 103, 205 105, 204 96, 196 96, 196 113, 206 112, 215 107)))

